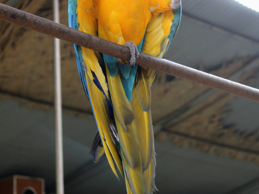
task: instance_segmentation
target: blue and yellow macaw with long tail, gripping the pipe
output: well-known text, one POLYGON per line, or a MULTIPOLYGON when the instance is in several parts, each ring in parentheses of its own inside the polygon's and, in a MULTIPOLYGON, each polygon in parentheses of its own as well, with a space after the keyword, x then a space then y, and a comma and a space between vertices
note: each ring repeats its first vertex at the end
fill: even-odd
POLYGON ((127 193, 155 192, 150 86, 156 71, 135 63, 138 51, 163 58, 181 18, 181 0, 69 0, 69 26, 130 48, 131 60, 74 45, 98 133, 91 148, 106 155, 127 193), (137 46, 135 46, 137 45, 137 46))

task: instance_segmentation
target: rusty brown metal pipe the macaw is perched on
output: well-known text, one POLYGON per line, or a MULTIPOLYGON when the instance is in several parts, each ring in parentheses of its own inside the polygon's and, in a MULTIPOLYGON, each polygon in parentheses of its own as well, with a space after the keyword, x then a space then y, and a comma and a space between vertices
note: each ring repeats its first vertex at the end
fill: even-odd
MULTIPOLYGON (((0 3, 0 19, 49 36, 90 48, 123 60, 130 59, 130 50, 122 45, 80 32, 62 24, 32 15, 0 3)), ((137 64, 225 92, 259 101, 259 90, 217 77, 181 64, 140 52, 137 64)))

